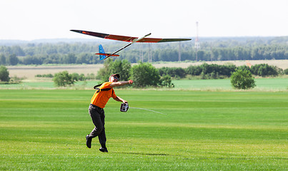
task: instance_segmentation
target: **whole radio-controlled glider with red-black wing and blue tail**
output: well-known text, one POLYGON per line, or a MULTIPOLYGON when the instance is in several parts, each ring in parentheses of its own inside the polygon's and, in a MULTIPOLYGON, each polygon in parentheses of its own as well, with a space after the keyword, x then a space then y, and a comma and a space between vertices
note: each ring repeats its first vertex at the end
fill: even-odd
MULTIPOLYGON (((113 34, 106 34, 106 33, 96 33, 96 32, 92 32, 92 31, 81 31, 81 30, 70 30, 70 31, 74 31, 76 33, 83 33, 89 36, 95 36, 95 37, 99 37, 99 38, 105 38, 105 39, 111 39, 111 40, 115 40, 115 41, 126 41, 126 42, 130 42, 129 44, 127 44, 126 46, 124 46, 123 48, 120 48, 119 50, 115 51, 114 53, 101 53, 100 51, 100 47, 99 47, 99 53, 96 53, 96 55, 100 55, 100 60, 104 60, 106 58, 109 58, 110 56, 119 56, 119 55, 115 55, 117 52, 122 51, 124 48, 130 46, 133 43, 136 42, 141 42, 141 43, 162 43, 162 42, 172 42, 172 41, 191 41, 191 38, 147 38, 147 36, 150 36, 151 33, 141 37, 141 38, 137 38, 137 37, 131 37, 131 36, 119 36, 119 35, 113 35, 113 34), (101 58, 102 55, 102 58, 101 58), (103 58, 103 56, 105 56, 103 58)), ((103 50, 104 52, 104 50, 103 50)))

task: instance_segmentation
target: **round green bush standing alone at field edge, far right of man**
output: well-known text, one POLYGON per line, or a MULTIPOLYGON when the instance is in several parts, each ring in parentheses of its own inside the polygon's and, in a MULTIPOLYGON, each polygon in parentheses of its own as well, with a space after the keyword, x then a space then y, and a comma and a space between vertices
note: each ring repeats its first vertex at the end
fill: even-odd
POLYGON ((237 89, 249 89, 256 86, 252 73, 248 70, 239 70, 232 73, 231 83, 237 89))

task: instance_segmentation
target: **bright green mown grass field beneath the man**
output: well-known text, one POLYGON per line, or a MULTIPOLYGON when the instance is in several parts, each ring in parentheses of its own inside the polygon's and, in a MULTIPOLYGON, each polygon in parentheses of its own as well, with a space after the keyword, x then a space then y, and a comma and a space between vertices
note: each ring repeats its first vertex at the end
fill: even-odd
POLYGON ((0 170, 287 170, 288 92, 116 90, 109 152, 85 135, 93 90, 0 90, 0 170))

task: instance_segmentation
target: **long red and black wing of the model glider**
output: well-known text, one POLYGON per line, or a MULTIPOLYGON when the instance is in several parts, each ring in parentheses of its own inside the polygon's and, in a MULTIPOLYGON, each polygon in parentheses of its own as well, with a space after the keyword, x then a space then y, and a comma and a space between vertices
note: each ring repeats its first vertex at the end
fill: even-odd
POLYGON ((99 38, 106 38, 116 41, 127 41, 127 42, 142 42, 142 43, 161 43, 161 42, 171 42, 171 41, 191 41, 191 38, 138 38, 131 37, 131 36, 119 36, 113 34, 106 34, 106 33, 96 33, 92 31, 81 31, 81 30, 71 30, 76 33, 83 33, 90 36, 95 36, 99 38), (135 41, 136 39, 136 41, 135 41))

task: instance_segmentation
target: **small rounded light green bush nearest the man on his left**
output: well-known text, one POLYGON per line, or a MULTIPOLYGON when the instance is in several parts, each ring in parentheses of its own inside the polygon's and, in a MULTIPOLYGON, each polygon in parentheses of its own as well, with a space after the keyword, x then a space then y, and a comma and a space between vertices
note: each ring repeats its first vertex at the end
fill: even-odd
POLYGON ((68 71, 62 71, 59 73, 55 73, 53 81, 56 86, 58 87, 66 87, 71 86, 71 84, 74 84, 74 78, 71 74, 68 73, 68 71))

